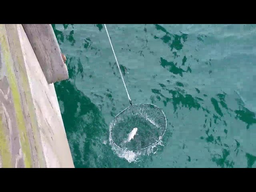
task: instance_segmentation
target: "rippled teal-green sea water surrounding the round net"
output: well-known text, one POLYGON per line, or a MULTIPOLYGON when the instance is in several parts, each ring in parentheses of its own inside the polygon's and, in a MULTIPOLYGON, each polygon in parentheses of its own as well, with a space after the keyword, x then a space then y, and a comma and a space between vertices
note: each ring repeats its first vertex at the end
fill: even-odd
POLYGON ((76 168, 256 168, 256 25, 107 24, 133 104, 167 119, 141 154, 109 142, 130 103, 104 24, 52 26, 67 58, 70 78, 54 85, 76 168))

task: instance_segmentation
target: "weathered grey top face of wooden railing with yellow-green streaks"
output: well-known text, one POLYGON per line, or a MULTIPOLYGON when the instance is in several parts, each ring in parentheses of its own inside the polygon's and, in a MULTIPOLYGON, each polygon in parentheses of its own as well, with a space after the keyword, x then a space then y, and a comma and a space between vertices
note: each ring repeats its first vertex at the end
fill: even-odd
MULTIPOLYGON (((0 47, 2 166, 20 168, 43 166, 44 157, 40 156, 42 144, 40 142, 36 144, 38 132, 33 132, 32 128, 37 124, 31 118, 35 111, 33 107, 30 107, 32 98, 29 97, 31 93, 16 24, 0 24, 0 47), (7 159, 10 164, 6 164, 7 159)), ((34 130, 37 131, 38 128, 34 130)))

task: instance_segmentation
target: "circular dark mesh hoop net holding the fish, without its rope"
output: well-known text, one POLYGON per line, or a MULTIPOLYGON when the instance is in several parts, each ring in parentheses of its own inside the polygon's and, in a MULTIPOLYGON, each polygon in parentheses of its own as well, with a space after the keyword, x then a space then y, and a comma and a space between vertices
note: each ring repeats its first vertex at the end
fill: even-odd
POLYGON ((120 112, 110 124, 110 140, 120 148, 138 151, 156 144, 166 130, 164 112, 153 104, 140 103, 120 112), (124 142, 138 128, 134 139, 124 142))

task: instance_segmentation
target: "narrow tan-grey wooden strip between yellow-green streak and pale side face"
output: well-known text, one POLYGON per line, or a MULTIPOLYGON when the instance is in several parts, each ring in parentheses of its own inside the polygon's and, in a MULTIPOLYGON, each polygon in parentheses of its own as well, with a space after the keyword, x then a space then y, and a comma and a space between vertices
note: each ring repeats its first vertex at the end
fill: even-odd
POLYGON ((36 112, 32 101, 28 73, 25 67, 25 60, 17 27, 18 24, 6 24, 6 34, 8 36, 8 44, 13 61, 14 75, 17 81, 17 94, 20 95, 20 101, 18 101, 17 97, 14 100, 14 104, 17 112, 19 112, 17 113, 17 118, 20 138, 24 140, 22 152, 26 153, 26 155, 24 155, 26 167, 45 167, 36 112), (28 158, 28 154, 30 155, 30 158, 28 158))

